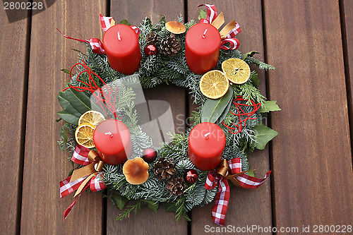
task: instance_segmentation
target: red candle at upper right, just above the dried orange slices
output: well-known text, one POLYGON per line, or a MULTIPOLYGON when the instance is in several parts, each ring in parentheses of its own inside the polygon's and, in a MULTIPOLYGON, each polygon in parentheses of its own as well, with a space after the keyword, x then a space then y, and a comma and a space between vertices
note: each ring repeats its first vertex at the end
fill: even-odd
POLYGON ((203 74, 217 65, 221 37, 215 26, 208 23, 193 25, 186 32, 185 58, 193 73, 203 74))

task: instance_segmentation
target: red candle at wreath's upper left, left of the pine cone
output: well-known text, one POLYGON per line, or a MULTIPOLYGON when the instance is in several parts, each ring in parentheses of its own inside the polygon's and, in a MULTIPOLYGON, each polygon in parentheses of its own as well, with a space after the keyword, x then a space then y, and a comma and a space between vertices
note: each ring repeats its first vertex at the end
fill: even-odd
POLYGON ((110 66, 124 74, 133 74, 140 67, 138 35, 128 25, 114 25, 103 36, 103 47, 110 66))

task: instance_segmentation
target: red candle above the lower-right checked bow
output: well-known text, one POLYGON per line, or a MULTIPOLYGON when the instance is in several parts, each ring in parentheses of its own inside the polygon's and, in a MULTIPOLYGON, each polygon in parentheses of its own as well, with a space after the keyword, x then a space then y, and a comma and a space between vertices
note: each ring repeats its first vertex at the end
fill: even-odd
POLYGON ((222 161, 225 133, 215 123, 203 122, 189 135, 189 159, 201 171, 215 169, 222 161))

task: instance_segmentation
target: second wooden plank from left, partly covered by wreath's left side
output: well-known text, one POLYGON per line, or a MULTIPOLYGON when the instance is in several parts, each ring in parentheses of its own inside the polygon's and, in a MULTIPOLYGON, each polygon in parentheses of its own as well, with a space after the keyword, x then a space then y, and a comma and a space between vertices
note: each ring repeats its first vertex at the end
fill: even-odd
POLYGON ((101 37, 98 13, 105 13, 105 1, 56 1, 46 11, 32 17, 28 114, 25 140, 21 232, 23 234, 102 234, 102 195, 83 193, 65 220, 63 212, 73 195, 59 198, 59 181, 65 179, 71 164, 68 152, 61 152, 61 110, 56 95, 69 80, 61 68, 71 68, 83 50, 67 35, 90 39, 101 37))

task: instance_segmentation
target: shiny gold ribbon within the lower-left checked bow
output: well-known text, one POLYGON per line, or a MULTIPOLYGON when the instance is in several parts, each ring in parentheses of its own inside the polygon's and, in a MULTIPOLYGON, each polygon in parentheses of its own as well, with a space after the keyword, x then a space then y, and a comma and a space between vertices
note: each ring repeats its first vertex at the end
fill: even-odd
POLYGON ((82 177, 88 176, 78 187, 75 195, 73 197, 76 197, 76 195, 80 194, 80 192, 83 190, 85 185, 92 179, 93 176, 96 176, 100 171, 103 171, 104 167, 104 162, 102 159, 100 159, 100 155, 98 155, 95 150, 90 150, 88 152, 88 160, 92 162, 91 164, 82 167, 80 169, 76 169, 73 171, 70 182, 76 181, 76 179, 80 179, 82 177))

